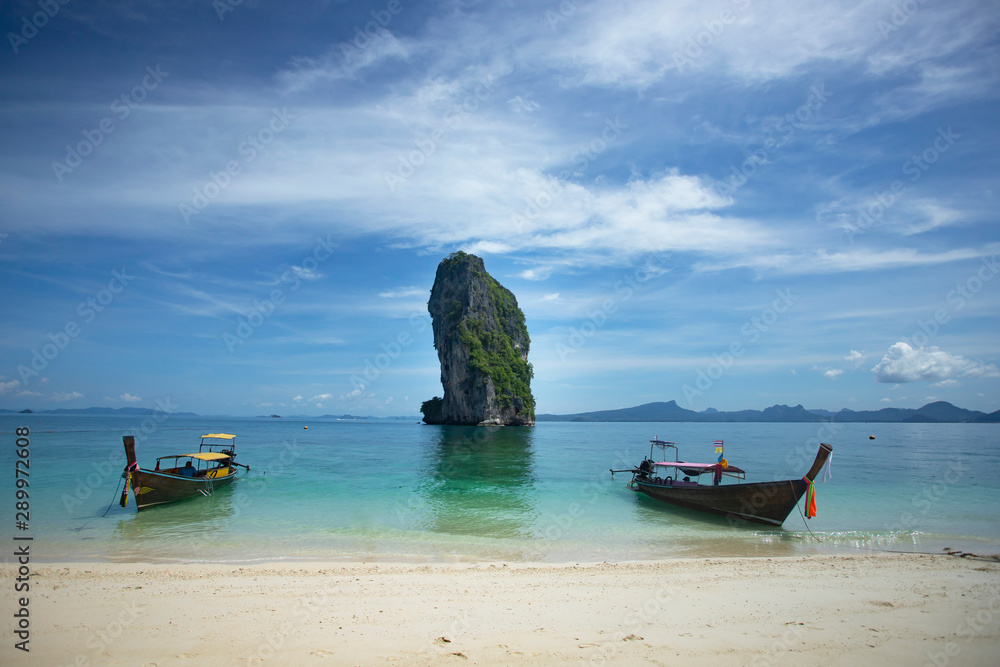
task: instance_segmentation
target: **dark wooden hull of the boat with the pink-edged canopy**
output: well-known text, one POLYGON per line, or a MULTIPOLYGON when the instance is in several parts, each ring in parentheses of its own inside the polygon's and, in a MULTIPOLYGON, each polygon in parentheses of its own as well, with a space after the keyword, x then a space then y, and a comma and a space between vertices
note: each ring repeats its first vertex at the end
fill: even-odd
POLYGON ((754 482, 724 486, 675 487, 636 481, 639 491, 650 498, 718 514, 733 520, 780 526, 806 492, 801 479, 754 482))

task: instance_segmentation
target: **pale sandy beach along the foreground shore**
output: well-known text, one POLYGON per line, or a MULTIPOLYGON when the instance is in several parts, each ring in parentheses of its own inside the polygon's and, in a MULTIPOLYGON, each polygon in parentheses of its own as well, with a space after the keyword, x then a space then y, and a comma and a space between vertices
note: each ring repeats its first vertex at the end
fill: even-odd
POLYGON ((1000 564, 948 556, 72 563, 29 595, 31 651, 8 632, 4 664, 940 666, 1000 646, 1000 564))

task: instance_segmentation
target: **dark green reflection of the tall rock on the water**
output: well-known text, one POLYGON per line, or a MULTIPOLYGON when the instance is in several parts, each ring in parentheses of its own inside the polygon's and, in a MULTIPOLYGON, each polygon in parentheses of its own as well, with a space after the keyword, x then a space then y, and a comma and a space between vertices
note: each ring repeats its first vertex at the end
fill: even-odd
POLYGON ((417 492, 426 530, 523 537, 536 518, 530 428, 438 426, 417 492))

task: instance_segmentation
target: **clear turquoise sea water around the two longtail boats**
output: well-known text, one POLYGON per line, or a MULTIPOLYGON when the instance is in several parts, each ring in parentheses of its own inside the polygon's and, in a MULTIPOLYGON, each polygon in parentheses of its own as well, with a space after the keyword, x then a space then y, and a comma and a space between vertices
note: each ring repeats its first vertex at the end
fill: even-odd
POLYGON ((856 549, 1000 552, 1000 426, 582 424, 463 428, 291 419, 0 417, 8 533, 53 561, 547 561, 783 556, 856 549), (17 426, 30 434, 31 516, 14 527, 17 426), (309 428, 303 429, 303 426, 309 428), (252 470, 211 498, 141 514, 117 504, 121 436, 143 467, 238 434, 252 470), (869 435, 875 439, 870 440, 869 435), (625 488, 654 436, 748 481, 801 477, 834 445, 819 513, 780 529, 733 527, 625 488), (106 516, 102 516, 111 508, 106 516))

